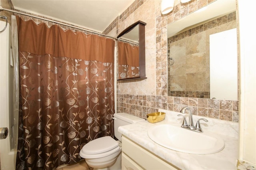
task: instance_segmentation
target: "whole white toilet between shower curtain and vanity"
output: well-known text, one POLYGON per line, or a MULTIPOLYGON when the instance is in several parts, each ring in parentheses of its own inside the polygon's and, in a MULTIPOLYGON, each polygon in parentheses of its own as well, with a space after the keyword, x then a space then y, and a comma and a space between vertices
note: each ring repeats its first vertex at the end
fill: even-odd
POLYGON ((113 119, 114 134, 119 141, 104 136, 90 141, 80 150, 80 156, 94 170, 121 170, 121 133, 118 127, 145 121, 127 113, 115 113, 113 119))

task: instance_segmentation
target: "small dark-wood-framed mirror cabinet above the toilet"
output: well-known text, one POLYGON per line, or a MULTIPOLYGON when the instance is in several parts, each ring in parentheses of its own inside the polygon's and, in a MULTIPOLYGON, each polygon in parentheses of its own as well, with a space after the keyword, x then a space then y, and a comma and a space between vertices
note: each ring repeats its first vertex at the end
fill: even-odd
POLYGON ((118 36, 118 81, 146 79, 145 26, 135 22, 118 36))

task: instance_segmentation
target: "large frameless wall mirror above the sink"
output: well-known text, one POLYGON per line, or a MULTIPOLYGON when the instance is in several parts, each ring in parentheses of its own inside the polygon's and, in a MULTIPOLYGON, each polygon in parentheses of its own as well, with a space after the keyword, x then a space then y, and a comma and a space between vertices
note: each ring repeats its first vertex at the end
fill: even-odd
POLYGON ((167 30, 169 96, 238 100, 236 0, 216 0, 167 30))

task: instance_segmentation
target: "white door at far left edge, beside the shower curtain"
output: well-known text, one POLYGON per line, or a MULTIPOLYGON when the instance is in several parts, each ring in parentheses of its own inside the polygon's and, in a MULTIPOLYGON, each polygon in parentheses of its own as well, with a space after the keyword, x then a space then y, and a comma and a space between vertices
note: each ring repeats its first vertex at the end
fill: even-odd
MULTIPOLYGON (((0 21, 0 30, 6 22, 0 21)), ((9 121, 9 113, 12 111, 10 102, 10 26, 0 33, 0 128, 7 127, 12 129, 9 121)), ((0 139, 0 169, 15 170, 16 153, 11 146, 12 135, 8 134, 7 138, 0 139)))

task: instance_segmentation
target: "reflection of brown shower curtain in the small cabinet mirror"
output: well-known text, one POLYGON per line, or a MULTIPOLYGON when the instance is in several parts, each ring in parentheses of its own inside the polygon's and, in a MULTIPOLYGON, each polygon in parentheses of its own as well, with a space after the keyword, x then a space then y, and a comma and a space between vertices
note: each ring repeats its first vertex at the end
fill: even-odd
POLYGON ((118 79, 138 77, 140 73, 139 46, 118 42, 118 79))

